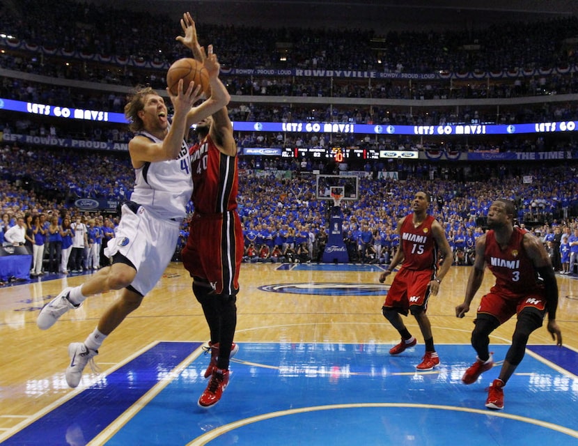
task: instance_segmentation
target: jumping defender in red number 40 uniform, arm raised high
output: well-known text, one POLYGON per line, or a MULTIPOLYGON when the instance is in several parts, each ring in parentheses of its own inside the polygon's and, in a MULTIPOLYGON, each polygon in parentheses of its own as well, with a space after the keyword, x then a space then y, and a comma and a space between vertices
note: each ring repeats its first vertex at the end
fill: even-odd
MULTIPOLYGON (((189 13, 180 21, 185 36, 178 40, 205 60, 189 13)), ((209 46, 209 54, 212 47, 209 46)), ((228 385, 229 359, 237 326, 239 268, 243 256, 243 231, 237 215, 237 143, 226 107, 196 125, 199 142, 191 148, 194 215, 182 262, 194 279, 193 293, 203 307, 209 326, 211 360, 207 388, 198 406, 214 406, 228 385)))

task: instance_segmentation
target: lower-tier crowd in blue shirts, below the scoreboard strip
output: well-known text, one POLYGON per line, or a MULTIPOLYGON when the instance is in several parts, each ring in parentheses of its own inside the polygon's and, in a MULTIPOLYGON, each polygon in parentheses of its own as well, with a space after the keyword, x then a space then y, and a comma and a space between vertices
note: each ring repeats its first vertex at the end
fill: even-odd
MULTIPOLYGON (((75 199, 130 199, 134 173, 127 157, 100 152, 87 155, 72 149, 39 150, 16 144, 6 145, 0 156, 0 212, 6 217, 2 224, 6 229, 19 215, 58 215, 62 221, 65 215, 74 218, 79 214, 87 223, 95 220, 93 226, 114 229, 116 215, 81 212, 75 207, 75 199), (116 178, 116 183, 108 185, 109 178, 116 178)), ((250 157, 241 156, 239 162, 238 212, 246 246, 253 244, 258 250, 266 245, 269 252, 277 246, 280 257, 319 260, 334 205, 331 200, 318 199, 315 174, 299 167, 289 171, 258 169, 250 157), (295 253, 286 252, 288 246, 295 253), (307 254, 299 255, 299 247, 307 254)), ((433 180, 424 161, 406 160, 387 168, 405 169, 407 179, 375 179, 374 172, 359 171, 359 199, 341 202, 350 261, 389 261, 398 245, 398 219, 411 213, 410 202, 419 190, 434 197, 430 213, 446 228, 458 263, 467 261, 468 248, 483 233, 483 217, 497 197, 513 199, 519 207, 519 221, 539 236, 556 226, 568 231, 568 236, 578 228, 578 176, 574 165, 518 162, 472 167, 448 163, 437 165, 439 176, 433 180), (524 177, 533 179, 529 183, 524 177)), ((193 211, 189 203, 189 215, 193 211)), ((185 243, 187 230, 185 221, 177 253, 185 243)))

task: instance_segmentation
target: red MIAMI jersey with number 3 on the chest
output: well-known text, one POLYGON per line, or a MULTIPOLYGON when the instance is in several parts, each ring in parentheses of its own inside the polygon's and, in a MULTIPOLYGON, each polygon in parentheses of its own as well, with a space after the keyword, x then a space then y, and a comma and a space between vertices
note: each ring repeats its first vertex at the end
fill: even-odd
POLYGON ((487 268, 496 277, 496 284, 490 291, 515 295, 540 293, 543 286, 538 282, 532 261, 524 252, 522 239, 526 229, 514 227, 514 232, 506 249, 501 249, 493 230, 485 236, 484 260, 487 268))

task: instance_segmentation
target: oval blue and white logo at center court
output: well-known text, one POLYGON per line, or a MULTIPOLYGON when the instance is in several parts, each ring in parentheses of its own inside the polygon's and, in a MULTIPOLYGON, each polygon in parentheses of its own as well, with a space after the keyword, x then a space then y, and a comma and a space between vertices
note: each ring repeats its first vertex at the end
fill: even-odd
POLYGON ((306 282, 304 284, 272 284, 259 286, 270 293, 308 295, 386 295, 389 286, 343 282, 306 282))

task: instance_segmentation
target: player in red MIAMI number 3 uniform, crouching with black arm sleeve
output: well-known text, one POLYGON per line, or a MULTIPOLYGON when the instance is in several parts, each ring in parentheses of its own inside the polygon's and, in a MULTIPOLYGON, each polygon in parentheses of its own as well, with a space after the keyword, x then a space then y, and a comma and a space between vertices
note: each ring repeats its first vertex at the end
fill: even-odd
POLYGON ((476 240, 476 259, 469 274, 464 302, 455 307, 455 316, 464 317, 480 288, 484 268, 492 271, 496 284, 482 297, 471 346, 478 356, 462 376, 464 384, 473 384, 492 369, 490 333, 517 314, 517 323, 499 377, 489 387, 485 406, 503 408, 503 386, 514 373, 526 351, 531 332, 542 326, 548 314, 548 331, 562 345, 562 333, 556 323, 558 284, 554 268, 543 243, 536 236, 513 225, 516 208, 513 201, 494 201, 487 213, 490 231, 476 240))

